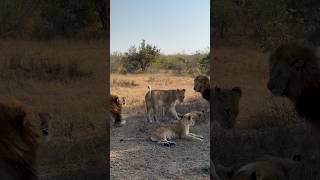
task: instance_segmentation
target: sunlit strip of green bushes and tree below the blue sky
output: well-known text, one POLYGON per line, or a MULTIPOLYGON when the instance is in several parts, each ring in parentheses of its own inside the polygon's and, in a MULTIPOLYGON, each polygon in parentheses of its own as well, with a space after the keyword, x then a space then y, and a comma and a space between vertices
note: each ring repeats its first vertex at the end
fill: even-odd
POLYGON ((161 54, 160 49, 142 40, 139 47, 131 46, 127 52, 113 52, 110 58, 112 73, 209 74, 209 53, 197 51, 188 54, 161 54))

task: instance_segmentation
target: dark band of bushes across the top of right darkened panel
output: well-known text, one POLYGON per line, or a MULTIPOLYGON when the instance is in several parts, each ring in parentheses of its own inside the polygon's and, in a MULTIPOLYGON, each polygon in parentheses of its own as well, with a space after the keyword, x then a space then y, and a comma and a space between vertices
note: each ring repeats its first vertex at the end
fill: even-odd
POLYGON ((268 50, 279 43, 320 43, 320 2, 315 0, 214 0, 215 46, 248 44, 268 50))

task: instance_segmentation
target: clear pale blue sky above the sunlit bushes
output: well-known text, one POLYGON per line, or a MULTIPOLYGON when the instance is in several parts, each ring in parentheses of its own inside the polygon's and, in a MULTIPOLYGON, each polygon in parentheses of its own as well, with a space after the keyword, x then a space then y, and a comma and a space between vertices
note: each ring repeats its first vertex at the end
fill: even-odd
POLYGON ((111 53, 142 39, 162 54, 209 51, 210 0, 111 0, 111 53))

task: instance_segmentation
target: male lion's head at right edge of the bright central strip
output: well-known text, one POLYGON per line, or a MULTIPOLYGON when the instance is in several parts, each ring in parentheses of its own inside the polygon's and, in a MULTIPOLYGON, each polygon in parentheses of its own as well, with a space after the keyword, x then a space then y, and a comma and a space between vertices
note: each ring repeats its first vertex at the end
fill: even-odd
POLYGON ((197 76, 194 79, 193 90, 200 92, 204 99, 210 101, 210 80, 207 76, 197 76))

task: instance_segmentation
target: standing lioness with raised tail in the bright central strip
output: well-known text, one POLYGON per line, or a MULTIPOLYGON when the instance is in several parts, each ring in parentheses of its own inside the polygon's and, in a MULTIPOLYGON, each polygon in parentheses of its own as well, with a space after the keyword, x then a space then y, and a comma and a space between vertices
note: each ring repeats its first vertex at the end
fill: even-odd
POLYGON ((185 97, 185 89, 175 90, 151 90, 148 86, 148 92, 145 95, 145 102, 147 108, 147 118, 149 122, 157 121, 159 111, 169 112, 175 117, 176 120, 180 119, 176 111, 176 103, 182 103, 185 97))

